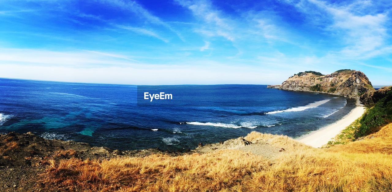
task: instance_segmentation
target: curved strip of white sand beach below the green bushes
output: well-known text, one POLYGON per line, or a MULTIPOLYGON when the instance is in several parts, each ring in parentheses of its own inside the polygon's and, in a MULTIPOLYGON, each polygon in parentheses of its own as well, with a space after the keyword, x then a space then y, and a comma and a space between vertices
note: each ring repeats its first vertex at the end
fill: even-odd
POLYGON ((301 136, 297 140, 312 147, 321 147, 338 135, 365 112, 365 107, 356 107, 337 122, 325 126, 319 130, 312 131, 309 135, 301 136))

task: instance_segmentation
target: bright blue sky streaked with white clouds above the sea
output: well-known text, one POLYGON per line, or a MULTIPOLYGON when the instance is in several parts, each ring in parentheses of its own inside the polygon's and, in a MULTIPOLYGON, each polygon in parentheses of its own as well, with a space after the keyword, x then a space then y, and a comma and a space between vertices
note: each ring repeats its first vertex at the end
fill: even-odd
POLYGON ((392 84, 392 2, 2 0, 0 77, 279 84, 356 69, 392 84))

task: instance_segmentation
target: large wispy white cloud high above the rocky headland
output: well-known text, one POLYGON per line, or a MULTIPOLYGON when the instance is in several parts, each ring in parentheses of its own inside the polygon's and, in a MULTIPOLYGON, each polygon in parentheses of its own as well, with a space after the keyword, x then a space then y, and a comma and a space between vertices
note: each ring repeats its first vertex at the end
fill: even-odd
POLYGON ((293 2, 299 11, 308 15, 312 23, 318 25, 330 34, 338 35, 345 46, 337 52, 345 57, 372 57, 379 49, 386 46, 387 12, 372 13, 365 9, 371 5, 370 1, 354 1, 351 4, 328 4, 320 0, 302 0, 293 2), (316 6, 314 9, 313 6, 316 6), (361 7, 354 11, 352 7, 361 7), (372 52, 372 54, 369 54, 372 52))

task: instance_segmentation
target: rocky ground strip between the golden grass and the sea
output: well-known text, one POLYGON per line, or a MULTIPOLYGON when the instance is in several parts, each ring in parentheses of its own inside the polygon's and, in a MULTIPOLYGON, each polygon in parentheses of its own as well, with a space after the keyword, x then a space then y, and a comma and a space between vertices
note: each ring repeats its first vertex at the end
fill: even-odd
MULTIPOLYGON (((281 137, 283 140, 292 140, 287 136, 281 137)), ((160 149, 120 151, 107 147, 93 147, 82 142, 48 140, 31 132, 23 134, 10 132, 0 135, 0 172, 2 172, 0 174, 0 189, 1 191, 46 190, 50 186, 46 186, 47 183, 42 182, 41 175, 51 165, 71 158, 110 160, 122 157, 146 157, 152 154, 180 156, 192 153, 205 154, 226 149, 249 151, 273 160, 285 151, 290 151, 291 147, 276 144, 276 141, 270 139, 245 140, 240 137, 216 144, 203 145, 200 143, 196 149, 186 152, 162 151, 160 149)))

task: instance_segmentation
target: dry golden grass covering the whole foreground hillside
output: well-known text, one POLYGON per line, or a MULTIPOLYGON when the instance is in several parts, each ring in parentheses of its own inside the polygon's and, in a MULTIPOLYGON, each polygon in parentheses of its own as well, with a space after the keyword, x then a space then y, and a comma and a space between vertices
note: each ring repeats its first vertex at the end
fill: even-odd
MULTIPOLYGON (((51 161, 44 183, 94 191, 392 191, 392 124, 362 141, 315 149, 287 136, 252 132, 285 146, 277 159, 236 150, 177 157, 51 161)), ((50 185, 49 185, 50 186, 50 185)), ((54 189, 54 188, 52 188, 54 189)))

